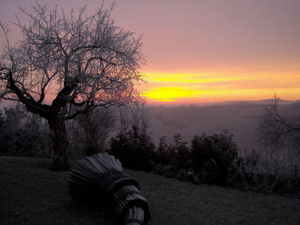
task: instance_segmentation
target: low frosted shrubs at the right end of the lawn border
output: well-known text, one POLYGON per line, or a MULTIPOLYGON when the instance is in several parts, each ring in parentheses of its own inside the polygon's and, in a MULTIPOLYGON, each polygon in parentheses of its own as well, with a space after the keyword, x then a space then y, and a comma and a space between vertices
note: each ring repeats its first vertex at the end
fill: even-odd
POLYGON ((236 158, 230 165, 227 184, 241 190, 299 196, 300 177, 297 175, 297 166, 291 164, 277 172, 273 170, 275 167, 276 159, 252 150, 244 157, 236 158), (273 171, 267 171, 268 169, 273 171))

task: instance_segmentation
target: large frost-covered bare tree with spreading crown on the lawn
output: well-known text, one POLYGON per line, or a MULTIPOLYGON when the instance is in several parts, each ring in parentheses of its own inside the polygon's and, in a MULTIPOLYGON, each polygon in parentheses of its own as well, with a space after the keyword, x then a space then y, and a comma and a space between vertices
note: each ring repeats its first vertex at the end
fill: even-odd
POLYGON ((29 23, 14 23, 23 35, 15 45, 0 22, 7 40, 0 54, 0 99, 20 101, 48 121, 55 136, 52 169, 69 167, 66 119, 139 98, 134 85, 142 81, 145 62, 141 39, 115 26, 112 8, 104 9, 102 2, 89 16, 84 6, 69 17, 38 3, 33 14, 19 8, 29 23), (47 98, 54 99, 47 104, 47 98))

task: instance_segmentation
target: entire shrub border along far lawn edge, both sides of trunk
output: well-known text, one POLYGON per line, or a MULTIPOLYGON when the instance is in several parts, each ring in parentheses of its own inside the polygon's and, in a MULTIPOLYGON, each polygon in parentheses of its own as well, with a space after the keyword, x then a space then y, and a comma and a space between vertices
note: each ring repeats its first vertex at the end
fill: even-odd
MULTIPOLYGON (((300 192, 297 164, 289 163, 284 155, 273 152, 263 154, 252 150, 244 156, 239 155, 233 134, 228 130, 219 134, 195 135, 190 145, 182 141, 180 133, 174 133, 172 143, 167 143, 166 137, 161 136, 156 147, 147 129, 143 128, 149 127, 145 126, 149 122, 148 116, 145 116, 147 122, 144 123, 134 120, 139 113, 130 115, 138 111, 135 109, 122 109, 121 119, 116 113, 118 110, 100 109, 93 112, 90 121, 88 115, 83 115, 67 123, 71 158, 79 159, 107 150, 124 167, 193 183, 225 185, 268 194, 294 195, 300 192), (119 134, 113 135, 111 130, 119 134), (108 133, 111 136, 109 145, 104 146, 108 133)), ((0 131, 2 155, 52 155, 51 130, 46 121, 27 112, 21 104, 4 108, 0 115, 0 131)))

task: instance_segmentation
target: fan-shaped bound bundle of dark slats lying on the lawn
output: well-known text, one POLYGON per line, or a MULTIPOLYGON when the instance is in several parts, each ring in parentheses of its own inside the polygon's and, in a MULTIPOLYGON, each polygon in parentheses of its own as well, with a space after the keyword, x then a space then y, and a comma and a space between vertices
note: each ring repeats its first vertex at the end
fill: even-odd
POLYGON ((75 163, 68 179, 73 199, 89 201, 114 210, 126 225, 144 224, 150 218, 146 199, 137 181, 123 172, 112 155, 98 153, 75 163))

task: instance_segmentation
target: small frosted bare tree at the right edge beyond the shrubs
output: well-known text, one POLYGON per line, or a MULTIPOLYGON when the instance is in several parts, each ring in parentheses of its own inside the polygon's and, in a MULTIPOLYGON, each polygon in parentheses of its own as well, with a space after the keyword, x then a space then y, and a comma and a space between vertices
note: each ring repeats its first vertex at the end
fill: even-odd
POLYGON ((278 110, 279 97, 275 94, 256 127, 260 143, 274 150, 289 147, 291 153, 300 153, 300 114, 284 115, 278 110))

